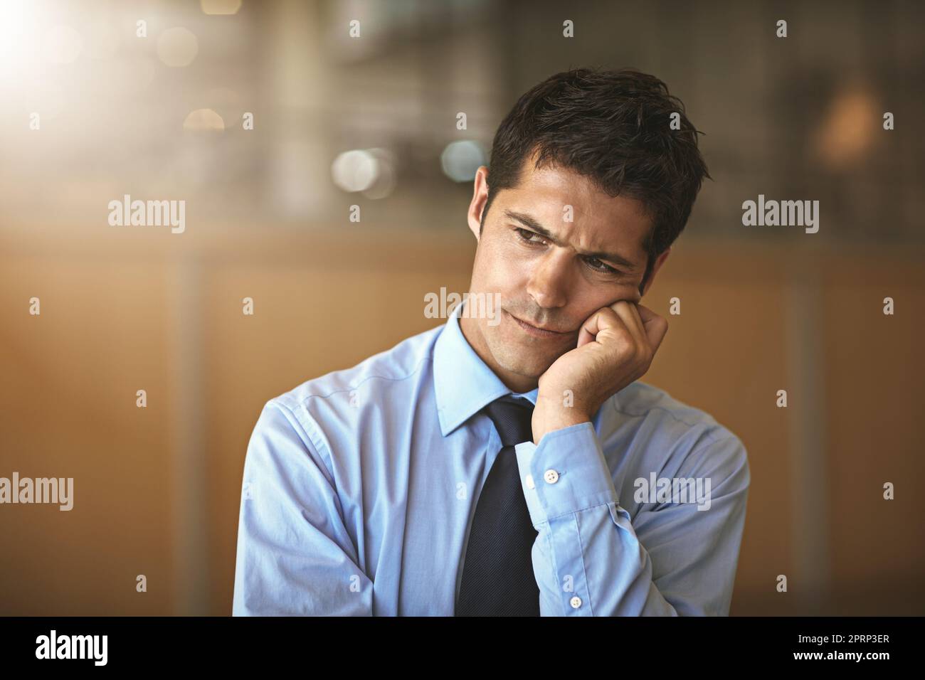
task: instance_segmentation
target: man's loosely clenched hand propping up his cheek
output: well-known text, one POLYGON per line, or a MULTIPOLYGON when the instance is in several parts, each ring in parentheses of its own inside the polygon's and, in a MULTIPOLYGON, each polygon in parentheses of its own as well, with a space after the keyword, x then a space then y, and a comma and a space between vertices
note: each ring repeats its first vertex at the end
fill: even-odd
POLYGON ((590 421, 602 403, 646 374, 667 332, 668 321, 637 302, 620 300, 590 315, 578 332, 578 346, 539 377, 533 442, 590 421))

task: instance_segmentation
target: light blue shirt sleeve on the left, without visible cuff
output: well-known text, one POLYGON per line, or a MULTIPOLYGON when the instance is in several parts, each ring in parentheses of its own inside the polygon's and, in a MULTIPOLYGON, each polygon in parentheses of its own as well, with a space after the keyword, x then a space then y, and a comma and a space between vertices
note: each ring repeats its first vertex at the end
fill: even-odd
POLYGON ((234 616, 371 616, 334 479, 296 416, 268 402, 244 461, 234 616))

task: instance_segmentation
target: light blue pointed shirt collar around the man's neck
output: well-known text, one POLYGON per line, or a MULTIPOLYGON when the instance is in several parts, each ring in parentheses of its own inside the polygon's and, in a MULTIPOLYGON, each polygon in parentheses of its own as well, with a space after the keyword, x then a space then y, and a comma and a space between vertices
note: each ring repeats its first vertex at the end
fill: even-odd
POLYGON ((444 437, 499 397, 514 394, 536 404, 539 392, 538 388, 512 392, 475 353, 460 328, 466 303, 468 300, 453 309, 434 346, 434 391, 444 437))

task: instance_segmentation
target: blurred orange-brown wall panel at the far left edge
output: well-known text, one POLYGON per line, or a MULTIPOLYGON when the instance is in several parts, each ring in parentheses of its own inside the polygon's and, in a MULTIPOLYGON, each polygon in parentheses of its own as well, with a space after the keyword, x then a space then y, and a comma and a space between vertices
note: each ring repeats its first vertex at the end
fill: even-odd
POLYGON ((0 507, 0 613, 169 613, 161 269, 4 258, 0 308, 0 475, 74 478, 70 511, 0 507), (41 315, 28 314, 32 296, 41 315))

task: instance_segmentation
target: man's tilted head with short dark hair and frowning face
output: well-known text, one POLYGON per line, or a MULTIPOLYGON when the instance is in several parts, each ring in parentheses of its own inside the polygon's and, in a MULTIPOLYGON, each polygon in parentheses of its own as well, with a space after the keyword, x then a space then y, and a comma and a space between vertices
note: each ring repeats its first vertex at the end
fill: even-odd
POLYGON ((640 301, 704 177, 697 130, 653 76, 580 68, 524 93, 490 170, 475 175, 468 214, 470 292, 499 293, 500 323, 462 318, 466 339, 509 387, 536 387, 588 316, 640 301), (562 332, 536 337, 512 317, 562 332))

